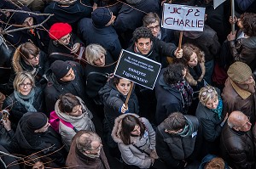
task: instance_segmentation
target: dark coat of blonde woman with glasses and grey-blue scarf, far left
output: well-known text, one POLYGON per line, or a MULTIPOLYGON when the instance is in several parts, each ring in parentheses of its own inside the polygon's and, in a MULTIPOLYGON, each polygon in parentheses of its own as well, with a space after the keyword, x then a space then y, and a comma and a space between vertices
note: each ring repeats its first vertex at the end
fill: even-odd
MULTIPOLYGON (((34 89, 35 95, 32 105, 36 110, 38 110, 38 112, 44 112, 44 93, 42 91, 42 88, 34 87, 34 89)), ((18 122, 20 121, 20 118, 27 112, 27 110, 23 104, 20 104, 20 102, 15 99, 15 93, 12 93, 3 101, 3 108, 6 108, 7 106, 9 106, 10 110, 9 120, 12 122, 12 126, 16 127, 18 122)))

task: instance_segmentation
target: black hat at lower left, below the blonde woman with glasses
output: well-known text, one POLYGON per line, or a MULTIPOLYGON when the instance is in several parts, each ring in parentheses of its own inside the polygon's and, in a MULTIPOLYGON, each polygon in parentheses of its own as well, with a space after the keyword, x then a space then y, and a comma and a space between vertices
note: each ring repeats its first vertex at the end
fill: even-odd
POLYGON ((26 125, 33 131, 44 127, 47 123, 47 116, 44 113, 35 112, 27 117, 26 125))

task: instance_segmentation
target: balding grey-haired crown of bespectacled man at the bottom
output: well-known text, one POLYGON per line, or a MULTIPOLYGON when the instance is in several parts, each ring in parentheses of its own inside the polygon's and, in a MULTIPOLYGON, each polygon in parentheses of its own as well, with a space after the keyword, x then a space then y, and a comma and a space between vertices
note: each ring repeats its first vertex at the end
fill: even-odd
POLYGON ((83 134, 76 139, 76 145, 80 152, 91 150, 91 142, 98 141, 102 143, 101 138, 96 132, 84 131, 83 134))

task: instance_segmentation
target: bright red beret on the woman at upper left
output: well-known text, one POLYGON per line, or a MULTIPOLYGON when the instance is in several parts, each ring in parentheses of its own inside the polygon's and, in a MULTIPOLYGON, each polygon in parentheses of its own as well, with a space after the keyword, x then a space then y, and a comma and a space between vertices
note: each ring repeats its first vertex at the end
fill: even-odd
POLYGON ((49 28, 49 37, 53 40, 61 39, 72 31, 71 25, 67 23, 55 23, 49 28))

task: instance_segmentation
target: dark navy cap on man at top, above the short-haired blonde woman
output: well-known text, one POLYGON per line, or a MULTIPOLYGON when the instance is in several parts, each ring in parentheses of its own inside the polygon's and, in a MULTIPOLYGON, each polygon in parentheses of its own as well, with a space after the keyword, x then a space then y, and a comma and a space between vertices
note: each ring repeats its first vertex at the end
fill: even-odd
POLYGON ((96 8, 91 14, 91 20, 98 28, 105 27, 111 18, 112 14, 109 8, 96 8))

